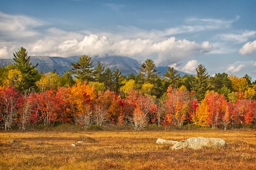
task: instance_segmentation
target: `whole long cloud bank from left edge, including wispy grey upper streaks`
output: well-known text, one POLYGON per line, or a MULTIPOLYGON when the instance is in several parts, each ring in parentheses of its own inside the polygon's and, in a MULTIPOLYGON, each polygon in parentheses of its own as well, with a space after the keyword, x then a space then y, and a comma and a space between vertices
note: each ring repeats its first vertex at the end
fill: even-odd
MULTIPOLYGON (((197 43, 170 36, 179 32, 207 29, 198 25, 164 31, 139 30, 134 34, 128 32, 122 35, 86 30, 72 32, 58 28, 43 29, 40 26, 47 25, 45 22, 3 12, 0 12, 0 20, 3 21, 0 23, 0 35, 5 35, 0 38, 0 58, 13 58, 13 52, 23 46, 31 56, 127 56, 141 62, 150 58, 154 59, 157 66, 167 66, 212 50, 208 41, 197 43)), ((131 29, 131 32, 134 30, 137 29, 131 29)))

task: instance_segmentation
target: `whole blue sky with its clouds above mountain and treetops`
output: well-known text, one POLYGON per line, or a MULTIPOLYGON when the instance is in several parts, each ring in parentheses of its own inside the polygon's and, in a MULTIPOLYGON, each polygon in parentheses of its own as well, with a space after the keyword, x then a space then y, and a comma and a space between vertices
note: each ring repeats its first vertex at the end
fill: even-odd
POLYGON ((126 56, 256 79, 256 0, 3 0, 0 58, 126 56))

